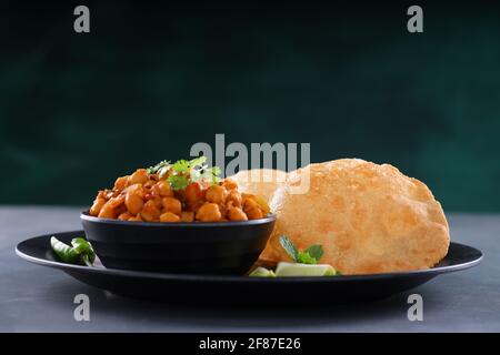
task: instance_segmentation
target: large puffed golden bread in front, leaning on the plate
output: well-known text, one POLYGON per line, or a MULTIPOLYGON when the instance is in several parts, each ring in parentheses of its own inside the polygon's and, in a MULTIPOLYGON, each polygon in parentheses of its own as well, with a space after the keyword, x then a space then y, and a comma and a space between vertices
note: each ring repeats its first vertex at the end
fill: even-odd
POLYGON ((448 222, 430 190, 389 164, 342 159, 288 174, 271 201, 277 224, 260 263, 289 260, 279 236, 299 248, 321 244, 328 263, 344 274, 428 268, 448 253, 448 222), (301 173, 310 190, 290 194, 301 173))

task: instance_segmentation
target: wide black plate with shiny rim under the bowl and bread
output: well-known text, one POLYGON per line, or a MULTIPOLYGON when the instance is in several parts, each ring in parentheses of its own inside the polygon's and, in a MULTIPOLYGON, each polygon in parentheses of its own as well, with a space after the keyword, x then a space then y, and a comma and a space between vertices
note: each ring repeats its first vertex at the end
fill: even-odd
POLYGON ((442 273, 479 264, 482 253, 468 245, 451 243, 448 255, 429 270, 334 277, 261 278, 227 275, 167 274, 70 265, 56 261, 49 239, 63 242, 82 236, 83 231, 47 234, 21 242, 16 253, 22 258, 60 268, 74 278, 112 293, 182 303, 210 304, 314 304, 384 298, 442 273))

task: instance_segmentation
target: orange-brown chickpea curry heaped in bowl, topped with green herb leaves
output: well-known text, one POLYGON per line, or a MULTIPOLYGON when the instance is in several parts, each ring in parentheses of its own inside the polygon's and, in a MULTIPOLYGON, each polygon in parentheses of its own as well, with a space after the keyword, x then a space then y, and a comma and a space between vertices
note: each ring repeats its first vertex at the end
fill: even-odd
POLYGON ((138 222, 224 222, 266 217, 262 197, 238 191, 206 158, 163 161, 118 178, 112 190, 99 191, 90 215, 138 222))

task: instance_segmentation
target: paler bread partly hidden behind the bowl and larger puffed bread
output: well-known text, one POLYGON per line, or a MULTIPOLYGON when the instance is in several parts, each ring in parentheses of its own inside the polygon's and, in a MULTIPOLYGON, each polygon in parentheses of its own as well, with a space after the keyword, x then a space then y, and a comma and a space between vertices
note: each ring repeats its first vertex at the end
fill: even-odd
POLYGON ((240 171, 230 179, 238 183, 240 191, 262 196, 269 202, 274 191, 284 183, 287 173, 273 169, 252 169, 240 171))

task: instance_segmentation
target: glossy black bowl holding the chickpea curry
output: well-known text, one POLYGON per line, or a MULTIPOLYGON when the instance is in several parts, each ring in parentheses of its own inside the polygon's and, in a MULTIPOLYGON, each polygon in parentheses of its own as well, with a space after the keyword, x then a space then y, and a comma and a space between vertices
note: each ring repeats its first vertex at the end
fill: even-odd
POLYGON ((87 240, 106 267, 170 273, 249 271, 276 217, 246 222, 148 223, 99 219, 82 212, 87 240))

